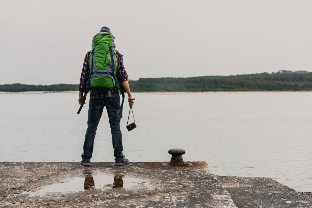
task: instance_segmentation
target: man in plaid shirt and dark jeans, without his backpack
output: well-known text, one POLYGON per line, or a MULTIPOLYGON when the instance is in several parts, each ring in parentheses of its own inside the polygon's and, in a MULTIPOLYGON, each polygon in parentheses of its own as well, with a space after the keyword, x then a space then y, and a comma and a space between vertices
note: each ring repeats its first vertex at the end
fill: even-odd
MULTIPOLYGON (((102 27, 100 32, 109 32, 108 27, 102 27)), ((85 60, 83 62, 80 85, 79 85, 79 99, 78 102, 81 105, 84 101, 83 92, 86 89, 86 83, 90 76, 90 67, 88 57, 91 51, 87 52, 85 55, 85 60)), ((128 94, 129 106, 133 105, 133 98, 130 92, 129 83, 128 83, 128 74, 124 69, 123 55, 121 55, 116 50, 117 56, 117 71, 116 77, 121 83, 122 87, 128 94)), ((90 159, 92 157, 93 144, 95 138, 95 132, 99 124, 104 106, 108 114, 110 129, 113 140, 114 156, 115 156, 115 166, 122 166, 129 164, 129 160, 126 159, 122 153, 122 135, 120 131, 120 96, 119 91, 116 88, 113 88, 110 92, 101 92, 93 88, 90 89, 90 102, 89 102, 89 111, 88 111, 88 128, 85 134, 85 143, 83 145, 83 154, 81 155, 82 161, 81 165, 90 166, 90 159)))

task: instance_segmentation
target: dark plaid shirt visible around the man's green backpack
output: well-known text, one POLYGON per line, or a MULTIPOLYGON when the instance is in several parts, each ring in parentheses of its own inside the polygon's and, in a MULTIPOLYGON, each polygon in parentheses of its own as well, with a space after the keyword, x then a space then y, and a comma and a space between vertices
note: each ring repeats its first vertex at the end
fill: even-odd
MULTIPOLYGON (((90 67, 89 67, 89 61, 88 61, 90 53, 91 53, 91 51, 87 52, 87 54, 85 55, 85 60, 83 62, 82 72, 81 72, 81 77, 80 77, 80 84, 79 84, 79 91, 80 92, 85 92, 86 82, 90 76, 90 67)), ((124 69, 124 61, 122 59, 122 56, 120 56, 118 53, 117 53, 116 77, 120 83, 128 80, 128 74, 127 74, 126 70, 124 69)), ((114 88, 112 90, 112 92, 114 92, 115 90, 117 90, 117 89, 114 88)), ((96 92, 95 90, 92 90, 92 87, 91 87, 90 98, 103 98, 103 97, 108 97, 108 93, 107 92, 96 92)))

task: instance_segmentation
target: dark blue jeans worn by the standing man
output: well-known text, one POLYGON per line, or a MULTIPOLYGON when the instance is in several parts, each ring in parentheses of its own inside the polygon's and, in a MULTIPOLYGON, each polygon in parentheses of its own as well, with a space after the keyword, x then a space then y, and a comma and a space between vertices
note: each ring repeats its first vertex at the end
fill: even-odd
POLYGON ((85 134, 85 143, 83 145, 83 154, 81 155, 83 161, 90 162, 93 151, 93 143, 95 132, 99 124, 102 112, 106 106, 107 115, 110 121, 110 131, 113 139, 115 160, 122 159, 122 135, 120 131, 120 96, 119 92, 115 91, 111 97, 105 98, 90 98, 88 111, 88 129, 85 134))

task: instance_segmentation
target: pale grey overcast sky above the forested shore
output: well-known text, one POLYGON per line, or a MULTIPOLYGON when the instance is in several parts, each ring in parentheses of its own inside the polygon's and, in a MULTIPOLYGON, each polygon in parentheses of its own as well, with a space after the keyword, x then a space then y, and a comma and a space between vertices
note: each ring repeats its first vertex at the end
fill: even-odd
POLYGON ((110 27, 129 78, 312 71, 312 1, 0 1, 0 84, 79 83, 110 27))

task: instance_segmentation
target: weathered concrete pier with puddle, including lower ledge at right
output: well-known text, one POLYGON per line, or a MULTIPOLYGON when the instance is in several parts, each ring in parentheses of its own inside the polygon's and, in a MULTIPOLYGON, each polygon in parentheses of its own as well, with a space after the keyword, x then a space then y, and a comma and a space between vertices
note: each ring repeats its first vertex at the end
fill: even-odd
POLYGON ((4 207, 312 207, 272 178, 213 175, 207 163, 0 162, 4 207))

